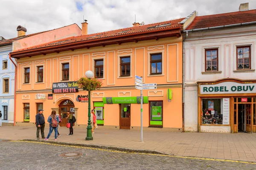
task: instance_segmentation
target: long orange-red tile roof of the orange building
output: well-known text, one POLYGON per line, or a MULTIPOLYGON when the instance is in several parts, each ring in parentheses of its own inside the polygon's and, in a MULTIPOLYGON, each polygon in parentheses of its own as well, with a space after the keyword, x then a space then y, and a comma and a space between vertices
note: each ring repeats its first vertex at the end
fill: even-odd
POLYGON ((68 44, 68 43, 76 43, 76 42, 87 41, 87 40, 101 40, 103 38, 106 39, 106 38, 111 38, 111 37, 130 36, 130 35, 137 35, 137 34, 143 34, 143 33, 148 33, 148 32, 157 32, 157 31, 162 31, 162 30, 178 29, 178 28, 180 28, 179 23, 183 19, 184 18, 180 18, 180 19, 169 20, 169 21, 160 22, 160 23, 152 23, 152 24, 148 24, 148 25, 129 27, 129 28, 124 28, 124 29, 116 29, 116 30, 112 30, 112 31, 99 32, 99 33, 90 34, 90 35, 67 37, 67 38, 64 38, 61 40, 44 43, 44 44, 41 44, 38 46, 32 46, 32 47, 29 47, 26 49, 16 50, 14 52, 28 51, 28 50, 32 50, 32 49, 40 49, 40 48, 49 47, 49 46, 58 46, 58 45, 63 45, 63 44, 68 44))

